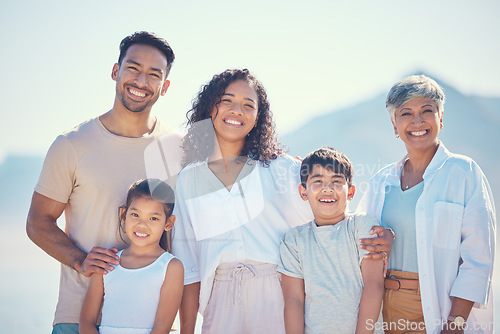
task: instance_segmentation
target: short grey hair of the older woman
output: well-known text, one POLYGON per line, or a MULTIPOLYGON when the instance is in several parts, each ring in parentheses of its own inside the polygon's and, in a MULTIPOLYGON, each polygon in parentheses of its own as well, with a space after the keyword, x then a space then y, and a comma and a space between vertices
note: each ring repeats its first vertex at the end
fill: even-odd
POLYGON ((425 97, 436 102, 439 112, 444 111, 444 93, 436 81, 426 75, 411 75, 394 84, 387 94, 385 108, 394 121, 396 109, 417 97, 425 97))

